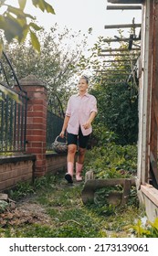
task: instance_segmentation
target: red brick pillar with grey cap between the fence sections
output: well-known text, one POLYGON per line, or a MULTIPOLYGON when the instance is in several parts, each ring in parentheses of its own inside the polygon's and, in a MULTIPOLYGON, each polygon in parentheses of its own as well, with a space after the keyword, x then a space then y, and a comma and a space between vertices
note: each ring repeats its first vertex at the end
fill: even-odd
POLYGON ((46 173, 47 88, 42 80, 29 75, 20 80, 27 91, 26 153, 36 155, 35 176, 46 173))

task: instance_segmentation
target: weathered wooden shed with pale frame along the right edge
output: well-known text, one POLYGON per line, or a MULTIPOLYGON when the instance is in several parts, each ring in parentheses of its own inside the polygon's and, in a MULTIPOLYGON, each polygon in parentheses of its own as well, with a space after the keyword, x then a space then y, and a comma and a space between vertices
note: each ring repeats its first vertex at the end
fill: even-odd
POLYGON ((138 62, 139 138, 136 186, 147 217, 153 221, 158 217, 158 1, 108 2, 113 4, 113 8, 142 8, 141 57, 138 62))

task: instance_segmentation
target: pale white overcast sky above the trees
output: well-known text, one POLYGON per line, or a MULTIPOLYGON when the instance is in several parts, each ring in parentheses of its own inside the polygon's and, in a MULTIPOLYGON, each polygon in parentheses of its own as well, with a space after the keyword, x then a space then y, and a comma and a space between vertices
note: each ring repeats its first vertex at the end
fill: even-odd
MULTIPOLYGON (((93 45, 99 36, 113 37, 118 35, 114 29, 105 29, 105 25, 131 24, 135 17, 135 23, 141 23, 140 10, 107 10, 111 5, 107 0, 46 0, 55 10, 56 15, 42 13, 37 8, 29 5, 27 0, 26 11, 37 16, 38 24, 47 30, 55 23, 59 27, 68 27, 73 31, 81 30, 86 33, 90 27, 93 28, 90 45, 93 45)), ((13 0, 10 1, 13 3, 13 0)))

